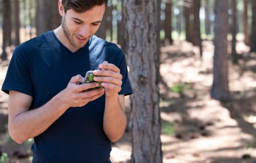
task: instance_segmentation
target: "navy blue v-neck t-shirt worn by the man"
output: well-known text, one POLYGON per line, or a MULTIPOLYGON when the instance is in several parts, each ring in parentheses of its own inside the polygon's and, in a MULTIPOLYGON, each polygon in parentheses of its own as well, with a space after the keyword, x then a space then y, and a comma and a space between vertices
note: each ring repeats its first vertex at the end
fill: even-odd
MULTIPOLYGON (((103 61, 120 69, 119 94, 131 94, 125 56, 116 44, 93 36, 84 47, 71 52, 50 31, 16 47, 2 90, 32 96, 33 110, 65 89, 72 76, 99 69, 103 61)), ((69 108, 34 138, 33 162, 110 162, 111 142, 103 131, 104 107, 105 95, 83 107, 69 108)))

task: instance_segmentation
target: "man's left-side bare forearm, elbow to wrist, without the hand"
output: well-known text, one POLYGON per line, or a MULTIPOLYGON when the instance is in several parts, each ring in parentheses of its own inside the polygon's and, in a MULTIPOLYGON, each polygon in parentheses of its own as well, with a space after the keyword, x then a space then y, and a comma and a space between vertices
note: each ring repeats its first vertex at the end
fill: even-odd
POLYGON ((9 123, 10 135, 20 144, 34 138, 44 132, 67 108, 61 104, 59 95, 56 95, 45 105, 12 118, 12 123, 9 123))

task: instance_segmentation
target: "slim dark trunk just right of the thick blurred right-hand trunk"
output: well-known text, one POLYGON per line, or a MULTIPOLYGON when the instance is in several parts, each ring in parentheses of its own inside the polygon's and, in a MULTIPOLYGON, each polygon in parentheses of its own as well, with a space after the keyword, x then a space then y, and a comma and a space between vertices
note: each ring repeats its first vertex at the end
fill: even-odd
POLYGON ((231 60, 233 64, 238 64, 238 56, 236 51, 237 43, 237 0, 232 0, 232 52, 231 60))

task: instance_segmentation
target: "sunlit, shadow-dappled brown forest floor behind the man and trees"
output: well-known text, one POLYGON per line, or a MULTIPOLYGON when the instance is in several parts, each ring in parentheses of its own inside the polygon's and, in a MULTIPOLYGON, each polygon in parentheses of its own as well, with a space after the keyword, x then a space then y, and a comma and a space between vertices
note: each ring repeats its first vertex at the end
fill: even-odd
MULTIPOLYGON (((230 48, 229 48, 230 49, 230 48)), ((239 65, 229 63, 230 101, 210 98, 214 46, 198 48, 185 41, 161 48, 162 151, 167 163, 256 163, 256 55, 238 42, 239 65), (170 89, 172 88, 172 89, 170 89), (254 99, 254 100, 253 100, 254 99)), ((2 87, 9 62, 0 65, 2 87)), ((7 131, 8 96, 0 92, 0 153, 10 162, 31 162, 31 142, 14 143, 7 131)), ((126 98, 129 118, 129 97, 126 98)), ((131 132, 113 144, 112 162, 129 162, 131 132)))

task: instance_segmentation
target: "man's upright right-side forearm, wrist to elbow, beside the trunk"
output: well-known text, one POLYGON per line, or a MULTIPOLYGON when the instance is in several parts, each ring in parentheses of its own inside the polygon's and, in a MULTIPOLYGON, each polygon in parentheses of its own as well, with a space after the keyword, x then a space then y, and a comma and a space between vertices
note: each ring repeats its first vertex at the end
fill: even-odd
POLYGON ((114 98, 106 97, 103 129, 111 142, 119 140, 126 127, 124 108, 121 107, 118 95, 114 98))

